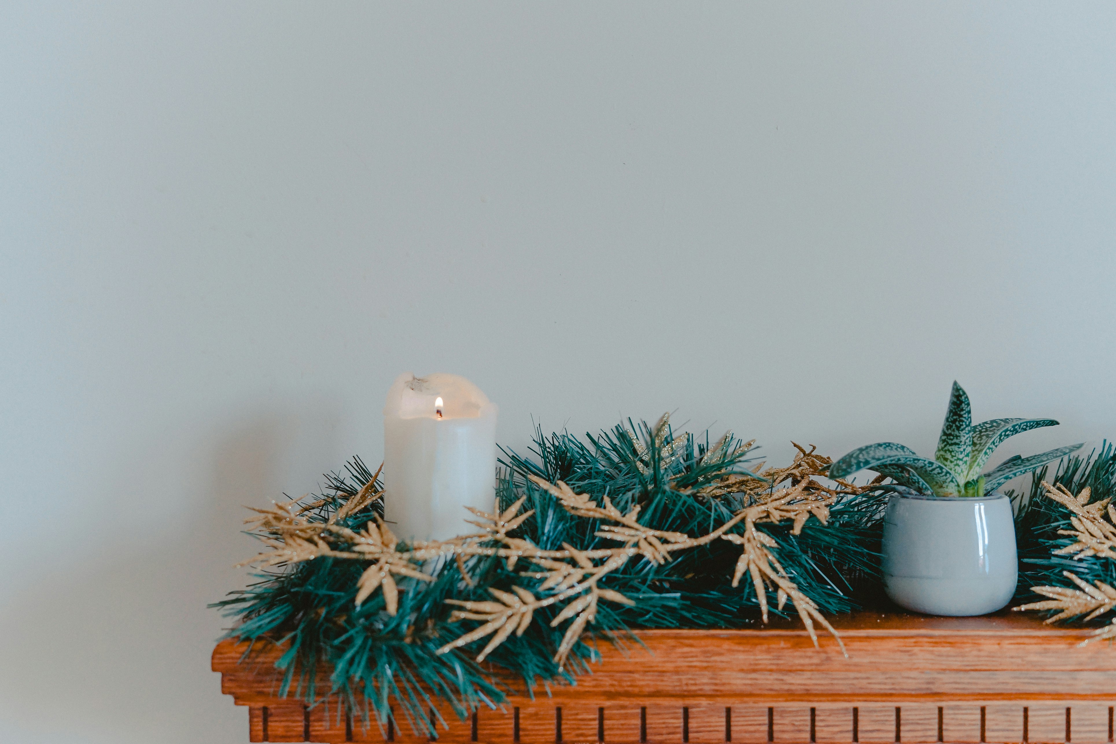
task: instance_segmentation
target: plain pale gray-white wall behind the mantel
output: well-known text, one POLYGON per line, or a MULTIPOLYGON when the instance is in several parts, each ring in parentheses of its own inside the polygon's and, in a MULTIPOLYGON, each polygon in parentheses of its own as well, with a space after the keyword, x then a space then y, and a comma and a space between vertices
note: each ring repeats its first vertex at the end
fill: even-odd
POLYGON ((1110 3, 0 7, 0 740, 244 742, 241 504, 675 410, 930 451, 950 383, 1116 435, 1110 3))

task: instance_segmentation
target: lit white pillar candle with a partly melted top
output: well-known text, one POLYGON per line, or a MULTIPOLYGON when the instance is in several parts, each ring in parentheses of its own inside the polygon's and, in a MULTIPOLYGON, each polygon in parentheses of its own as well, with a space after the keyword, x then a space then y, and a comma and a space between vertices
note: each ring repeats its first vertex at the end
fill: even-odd
POLYGON ((402 539, 474 532, 465 506, 492 509, 496 404, 458 375, 400 375, 384 405, 384 506, 402 539))

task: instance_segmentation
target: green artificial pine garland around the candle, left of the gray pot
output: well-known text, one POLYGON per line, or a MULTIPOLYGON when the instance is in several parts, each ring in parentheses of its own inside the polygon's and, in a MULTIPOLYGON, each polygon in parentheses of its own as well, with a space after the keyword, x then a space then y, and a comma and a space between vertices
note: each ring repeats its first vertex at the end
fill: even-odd
MULTIPOLYGON (((754 482, 751 492, 716 490, 727 480, 754 479, 744 468, 752 453, 731 435, 713 445, 708 435, 704 442, 692 435, 675 438, 665 419, 655 427, 645 423, 617 426, 584 441, 566 433, 545 436, 539 429, 530 455, 504 450, 498 497, 501 510, 526 497, 522 509, 535 512, 514 535, 543 550, 568 544, 591 551, 615 548, 616 542, 599 534, 600 520, 570 513, 531 476, 549 483, 562 481, 597 503, 607 495, 620 512, 638 505, 638 521, 647 528, 708 534, 756 502, 754 482)), ((327 493, 315 502, 294 502, 311 522, 356 532, 382 515, 381 502, 367 501, 378 483, 359 458, 348 463, 347 472, 327 479, 327 493)), ((781 485, 787 484, 762 487, 773 493, 781 485)), ((786 576, 821 612, 848 612, 878 591, 883 503, 877 490, 854 493, 829 506, 826 524, 810 518, 797 525, 762 523, 756 529, 776 543, 770 551, 786 576)), ((733 534, 742 532, 742 524, 732 530, 733 534)), ((714 540, 662 564, 628 560, 604 577, 602 589, 619 592, 634 605, 602 602, 589 626, 591 634, 573 645, 564 664, 555 658, 565 628, 551 627, 561 610, 554 605, 538 610, 521 636, 508 637, 481 665, 473 657, 485 645, 484 638, 445 650, 481 625, 480 620, 453 621, 454 607, 446 600, 491 603, 490 589, 510 591, 525 582, 538 597, 552 595, 554 589, 539 588, 541 578, 533 584, 525 579, 525 573, 539 570, 530 560, 509 569, 503 558, 471 555, 461 562, 441 561, 431 581, 400 577, 398 607, 392 613, 384 591, 356 605, 367 563, 336 557, 347 548, 323 550, 319 545, 317 557, 296 555, 298 550, 315 550, 308 543, 286 550, 294 555, 290 561, 259 573, 256 583, 214 605, 238 620, 227 637, 287 645, 277 664, 283 673, 280 695, 298 695, 308 704, 337 695, 350 711, 360 711, 366 724, 375 719, 382 726, 394 705, 396 716, 402 714, 414 731, 423 733, 432 733, 430 727, 437 724, 426 716, 434 703, 432 695, 449 702, 461 717, 480 705, 504 700, 510 690, 492 675, 489 661, 522 677, 533 694, 538 685, 574 683, 588 670, 599 658, 595 638, 624 637, 638 628, 747 627, 761 617, 751 574, 745 571, 739 586, 732 586, 740 549, 729 540, 714 540), (329 689, 316 684, 316 673, 324 668, 333 669, 329 689)), ((791 609, 780 602, 770 611, 786 616, 791 609)))

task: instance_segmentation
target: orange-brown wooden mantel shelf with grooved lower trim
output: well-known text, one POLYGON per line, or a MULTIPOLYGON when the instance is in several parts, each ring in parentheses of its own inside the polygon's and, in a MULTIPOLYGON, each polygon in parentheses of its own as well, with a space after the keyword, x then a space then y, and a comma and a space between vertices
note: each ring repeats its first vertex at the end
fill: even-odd
MULTIPOLYGON (((757 630, 643 630, 646 648, 602 642, 576 686, 518 695, 471 721, 442 712, 445 744, 886 744, 1113 742, 1116 648, 1089 632, 1001 612, 935 618, 863 612, 834 625, 848 648, 781 625, 757 630)), ((213 651, 221 688, 250 709, 252 742, 416 742, 405 722, 381 731, 277 697, 264 649, 213 651)))

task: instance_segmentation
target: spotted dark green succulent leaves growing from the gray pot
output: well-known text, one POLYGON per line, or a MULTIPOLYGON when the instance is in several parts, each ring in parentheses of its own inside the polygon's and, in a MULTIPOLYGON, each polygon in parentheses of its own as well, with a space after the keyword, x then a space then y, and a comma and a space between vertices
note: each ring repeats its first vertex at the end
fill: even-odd
POLYGON ((1029 473, 1081 446, 1058 447, 1030 457, 1016 455, 988 473, 981 473, 988 458, 1008 437, 1057 424, 1050 418, 993 418, 973 426, 969 396, 954 381, 933 460, 920 457, 902 444, 881 442, 854 450, 835 462, 829 466, 829 476, 847 477, 859 470, 870 470, 892 479, 897 484, 895 490, 899 492, 983 496, 1017 475, 1029 473))

